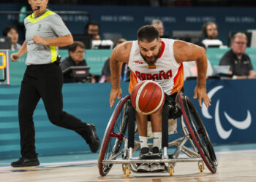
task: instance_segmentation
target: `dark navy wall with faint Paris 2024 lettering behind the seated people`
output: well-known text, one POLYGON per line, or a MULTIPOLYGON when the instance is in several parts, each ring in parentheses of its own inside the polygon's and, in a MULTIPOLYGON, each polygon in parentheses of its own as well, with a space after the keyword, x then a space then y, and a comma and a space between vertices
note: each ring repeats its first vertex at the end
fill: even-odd
MULTIPOLYGON (((2 11, 19 11, 23 4, 1 4, 2 11)), ((214 21, 219 25, 219 39, 227 44, 230 31, 256 29, 255 7, 151 7, 151 6, 109 6, 109 5, 70 5, 49 4, 56 10, 86 11, 91 20, 100 24, 101 35, 121 33, 125 39, 136 39, 136 32, 154 18, 165 25, 165 33, 172 31, 200 31, 203 23, 214 21)), ((61 15, 72 33, 83 33, 89 18, 86 15, 61 15)), ((6 25, 18 25, 18 14, 0 14, 0 30, 6 25)), ((20 41, 23 41, 23 29, 20 28, 20 41)))

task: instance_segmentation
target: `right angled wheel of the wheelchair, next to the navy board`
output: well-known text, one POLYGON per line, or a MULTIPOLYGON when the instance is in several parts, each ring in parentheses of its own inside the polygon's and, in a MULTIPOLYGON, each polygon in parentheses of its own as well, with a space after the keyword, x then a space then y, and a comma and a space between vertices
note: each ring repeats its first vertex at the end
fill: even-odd
POLYGON ((195 106, 182 92, 178 93, 178 103, 181 107, 184 121, 187 125, 192 141, 195 143, 198 153, 211 173, 216 173, 217 157, 215 155, 214 147, 212 146, 206 127, 204 127, 195 106))

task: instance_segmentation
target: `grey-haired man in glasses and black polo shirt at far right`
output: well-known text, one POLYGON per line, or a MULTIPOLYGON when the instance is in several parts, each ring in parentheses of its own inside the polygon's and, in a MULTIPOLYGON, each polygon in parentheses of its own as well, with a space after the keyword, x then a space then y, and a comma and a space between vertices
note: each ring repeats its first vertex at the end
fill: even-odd
POLYGON ((233 74, 234 79, 255 79, 256 74, 252 68, 252 63, 246 50, 246 34, 238 32, 231 39, 231 50, 223 55, 219 65, 230 66, 229 74, 233 74))

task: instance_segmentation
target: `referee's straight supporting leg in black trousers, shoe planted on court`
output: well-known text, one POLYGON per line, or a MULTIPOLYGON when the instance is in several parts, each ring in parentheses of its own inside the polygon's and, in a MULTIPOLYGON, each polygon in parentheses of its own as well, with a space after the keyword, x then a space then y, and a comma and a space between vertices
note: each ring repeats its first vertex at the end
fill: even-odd
POLYGON ((34 82, 37 79, 37 71, 28 66, 20 86, 18 101, 18 117, 20 125, 20 149, 21 158, 12 162, 12 167, 37 166, 39 161, 35 149, 35 132, 33 113, 39 101, 39 93, 34 82))

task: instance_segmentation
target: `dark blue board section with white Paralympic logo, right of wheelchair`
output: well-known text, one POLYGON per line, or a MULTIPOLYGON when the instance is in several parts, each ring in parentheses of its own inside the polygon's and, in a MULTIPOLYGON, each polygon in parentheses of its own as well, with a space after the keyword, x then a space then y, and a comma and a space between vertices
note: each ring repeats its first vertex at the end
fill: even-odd
MULTIPOLYGON (((200 106, 192 99, 203 123, 217 144, 255 143, 256 80, 208 80, 211 106, 200 106)), ((193 98, 195 81, 186 81, 185 95, 193 98)))

